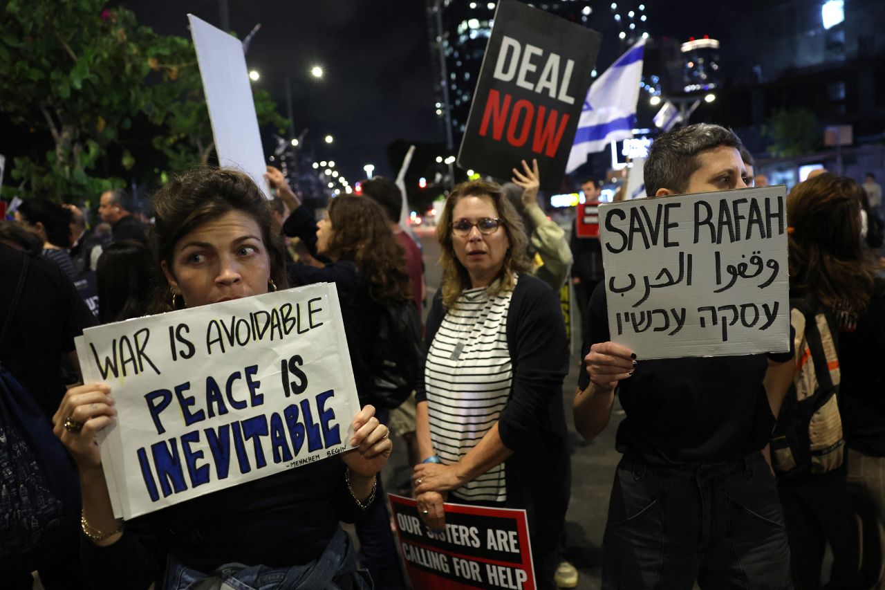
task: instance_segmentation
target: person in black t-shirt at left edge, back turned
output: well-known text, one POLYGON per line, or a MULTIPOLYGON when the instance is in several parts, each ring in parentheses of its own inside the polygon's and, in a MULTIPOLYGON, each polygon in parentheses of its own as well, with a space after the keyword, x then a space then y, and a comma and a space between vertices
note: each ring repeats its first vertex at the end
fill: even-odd
MULTIPOLYGON (((37 255, 41 250, 42 242, 34 233, 17 223, 0 221, 0 276, 4 277, 0 280, 0 325, 7 319, 11 322, 0 342, 0 364, 22 385, 49 423, 65 395, 62 358, 68 357, 79 368, 73 338, 95 325, 95 319, 61 268, 37 255), (28 244, 29 240, 36 243, 28 244), (12 296, 26 256, 30 257, 26 280, 10 317, 12 296)), ((4 444, 8 442, 4 438, 4 444)), ((4 501, 8 500, 4 492, 4 501)), ((33 554, 15 555, 14 560, 5 555, 0 560, 4 588, 31 588, 32 571, 39 572, 46 590, 89 587, 80 565, 79 522, 59 524, 56 536, 50 539, 33 554)))

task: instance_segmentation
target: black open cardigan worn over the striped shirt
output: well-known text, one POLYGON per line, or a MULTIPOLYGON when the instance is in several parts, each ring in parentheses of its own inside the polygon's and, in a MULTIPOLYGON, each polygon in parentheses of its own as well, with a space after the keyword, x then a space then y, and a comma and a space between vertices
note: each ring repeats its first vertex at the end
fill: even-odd
MULTIPOLYGON (((426 351, 445 314, 437 292, 427 316, 426 351)), ((532 545, 543 547, 550 542, 544 533, 553 536, 565 518, 571 477, 562 398, 569 354, 558 294, 534 276, 519 275, 506 334, 513 383, 497 423, 504 446, 513 451, 504 463, 506 506, 527 510, 532 545)), ((427 401, 424 370, 415 389, 417 400, 427 401)))

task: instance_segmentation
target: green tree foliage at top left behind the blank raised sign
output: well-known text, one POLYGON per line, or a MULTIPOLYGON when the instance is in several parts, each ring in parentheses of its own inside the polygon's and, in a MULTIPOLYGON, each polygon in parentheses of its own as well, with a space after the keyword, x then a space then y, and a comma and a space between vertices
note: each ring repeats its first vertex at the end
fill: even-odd
MULTIPOLYGON (((132 180, 135 153, 156 164, 156 176, 210 159, 193 43, 105 4, 7 0, 0 8, 0 113, 52 146, 42 158, 12 154, 12 179, 26 193, 94 197, 132 180)), ((256 93, 256 110, 260 124, 287 124, 266 92, 256 93)))

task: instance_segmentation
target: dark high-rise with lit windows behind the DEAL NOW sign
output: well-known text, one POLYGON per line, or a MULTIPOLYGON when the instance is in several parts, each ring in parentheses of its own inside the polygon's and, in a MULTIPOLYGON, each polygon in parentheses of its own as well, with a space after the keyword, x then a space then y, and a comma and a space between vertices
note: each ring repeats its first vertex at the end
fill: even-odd
MULTIPOLYGON (((634 0, 612 2, 604 10, 593 7, 592 4, 598 7, 599 2, 586 0, 527 4, 616 37, 623 49, 647 35, 645 5, 634 0)), ((437 97, 433 106, 450 151, 458 149, 464 134, 496 7, 497 3, 491 0, 427 0, 427 26, 436 70, 437 97)), ((596 76, 596 70, 593 75, 596 76)))

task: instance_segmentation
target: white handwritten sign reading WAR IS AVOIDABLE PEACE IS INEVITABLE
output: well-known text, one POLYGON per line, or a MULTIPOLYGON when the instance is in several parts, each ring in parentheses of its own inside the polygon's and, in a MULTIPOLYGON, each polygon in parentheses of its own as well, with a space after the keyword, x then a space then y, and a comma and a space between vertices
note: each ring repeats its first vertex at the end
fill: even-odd
POLYGON ((349 448, 359 402, 334 284, 90 328, 77 351, 115 400, 99 439, 115 516, 349 448))

